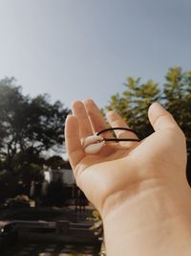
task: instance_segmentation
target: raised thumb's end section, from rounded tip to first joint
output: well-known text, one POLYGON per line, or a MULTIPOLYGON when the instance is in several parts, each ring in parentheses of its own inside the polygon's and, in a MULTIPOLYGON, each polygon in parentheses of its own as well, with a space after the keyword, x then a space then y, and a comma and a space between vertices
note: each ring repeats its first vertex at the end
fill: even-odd
POLYGON ((152 127, 159 129, 180 129, 173 116, 165 110, 159 103, 150 105, 148 117, 152 127))

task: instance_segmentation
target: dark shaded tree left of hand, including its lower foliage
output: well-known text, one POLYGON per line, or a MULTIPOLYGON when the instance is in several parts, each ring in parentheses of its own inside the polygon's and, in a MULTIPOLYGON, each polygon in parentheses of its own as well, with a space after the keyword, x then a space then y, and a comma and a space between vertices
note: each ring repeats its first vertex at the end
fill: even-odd
POLYGON ((63 149, 68 113, 46 94, 24 96, 13 78, 0 81, 0 173, 6 170, 26 187, 32 180, 41 182, 46 155, 63 149))

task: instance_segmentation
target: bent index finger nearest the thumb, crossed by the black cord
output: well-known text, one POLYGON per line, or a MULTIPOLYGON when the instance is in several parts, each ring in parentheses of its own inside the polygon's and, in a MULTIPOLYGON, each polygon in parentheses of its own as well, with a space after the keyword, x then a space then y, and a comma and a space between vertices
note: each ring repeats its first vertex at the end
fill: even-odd
MULTIPOLYGON (((125 121, 115 111, 107 112, 106 117, 112 128, 129 128, 125 121)), ((138 139, 137 134, 129 130, 115 130, 115 133, 117 138, 138 139)))

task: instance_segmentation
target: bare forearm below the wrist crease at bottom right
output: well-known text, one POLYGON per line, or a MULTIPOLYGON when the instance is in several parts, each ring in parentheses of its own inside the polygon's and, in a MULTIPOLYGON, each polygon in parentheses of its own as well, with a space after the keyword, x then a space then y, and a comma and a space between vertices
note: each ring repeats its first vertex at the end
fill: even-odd
POLYGON ((103 218, 107 256, 190 255, 190 195, 184 193, 157 187, 124 200, 103 218))

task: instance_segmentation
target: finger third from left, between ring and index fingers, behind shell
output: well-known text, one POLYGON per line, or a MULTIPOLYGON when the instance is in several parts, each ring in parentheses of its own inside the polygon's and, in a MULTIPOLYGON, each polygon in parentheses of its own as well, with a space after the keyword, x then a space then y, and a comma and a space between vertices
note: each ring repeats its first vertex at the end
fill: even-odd
MULTIPOLYGON (((100 113, 99 108, 93 100, 85 100, 83 101, 83 104, 85 105, 94 132, 108 128, 102 114, 100 113)), ((102 133, 101 136, 113 137, 111 132, 102 133)))

